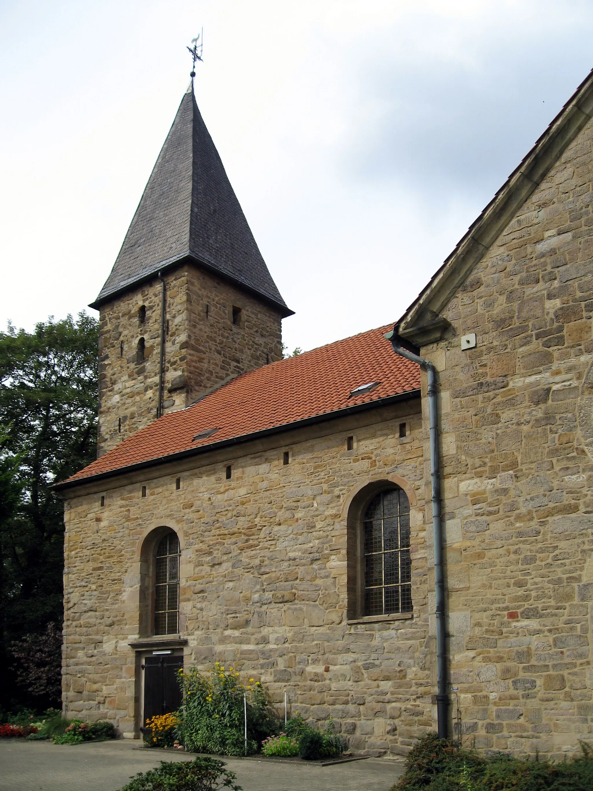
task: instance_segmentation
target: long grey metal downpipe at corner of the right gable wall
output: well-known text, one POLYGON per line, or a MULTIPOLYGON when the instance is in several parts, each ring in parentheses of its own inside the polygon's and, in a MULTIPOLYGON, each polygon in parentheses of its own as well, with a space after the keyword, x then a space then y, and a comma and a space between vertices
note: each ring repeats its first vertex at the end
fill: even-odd
POLYGON ((432 490, 432 544, 434 547, 434 584, 436 615, 436 722, 440 739, 448 737, 447 655, 443 570, 443 523, 440 513, 439 425, 436 411, 436 369, 432 362, 418 357, 397 343, 395 332, 387 332, 395 354, 417 362, 426 371, 429 396, 430 483, 432 490))

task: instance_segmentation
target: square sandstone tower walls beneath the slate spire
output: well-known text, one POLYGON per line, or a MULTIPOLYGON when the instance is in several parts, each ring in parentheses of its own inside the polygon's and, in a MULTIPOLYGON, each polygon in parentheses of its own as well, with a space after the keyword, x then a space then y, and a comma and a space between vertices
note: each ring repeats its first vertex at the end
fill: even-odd
MULTIPOLYGON (((281 358, 281 318, 274 309, 190 265, 165 280, 163 412, 281 358), (232 323, 233 307, 240 308, 239 324, 232 323)), ((99 456, 157 418, 160 343, 159 280, 100 308, 99 456), (141 338, 145 351, 138 361, 141 338)))

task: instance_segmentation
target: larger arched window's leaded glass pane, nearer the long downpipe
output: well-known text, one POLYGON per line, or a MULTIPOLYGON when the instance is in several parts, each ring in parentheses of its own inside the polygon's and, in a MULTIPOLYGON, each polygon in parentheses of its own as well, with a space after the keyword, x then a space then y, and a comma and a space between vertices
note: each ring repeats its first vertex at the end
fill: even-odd
POLYGON ((380 491, 362 520, 364 615, 412 611, 410 503, 406 492, 380 491))

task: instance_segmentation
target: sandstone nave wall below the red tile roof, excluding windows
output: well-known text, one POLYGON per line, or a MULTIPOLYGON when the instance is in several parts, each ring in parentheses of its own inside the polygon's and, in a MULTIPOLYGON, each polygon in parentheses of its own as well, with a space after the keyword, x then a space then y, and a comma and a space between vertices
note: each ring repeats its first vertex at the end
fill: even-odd
POLYGON ((70 495, 66 713, 138 733, 140 671, 128 643, 140 631, 139 553, 153 528, 168 525, 182 542, 186 665, 232 663, 261 679, 279 708, 287 691, 291 711, 332 715, 353 749, 407 751, 434 727, 422 442, 415 399, 70 495), (409 435, 400 439, 404 420, 409 435), (414 614, 347 622, 349 498, 393 476, 412 503, 414 614))

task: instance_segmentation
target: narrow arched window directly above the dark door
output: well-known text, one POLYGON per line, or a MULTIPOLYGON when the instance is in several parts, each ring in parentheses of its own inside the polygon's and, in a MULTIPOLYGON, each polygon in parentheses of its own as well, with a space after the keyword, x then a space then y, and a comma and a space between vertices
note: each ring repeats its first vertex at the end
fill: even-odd
POLYGON ((154 634, 179 631, 179 539, 168 532, 157 547, 154 585, 154 634))

